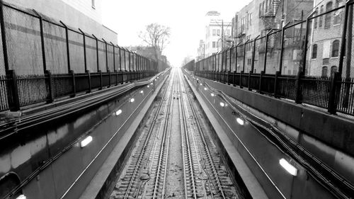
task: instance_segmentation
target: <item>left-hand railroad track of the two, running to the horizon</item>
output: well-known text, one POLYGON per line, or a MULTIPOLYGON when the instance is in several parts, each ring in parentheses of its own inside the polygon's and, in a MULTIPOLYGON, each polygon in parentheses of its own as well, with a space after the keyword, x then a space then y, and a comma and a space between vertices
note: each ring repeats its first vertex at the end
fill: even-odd
POLYGON ((171 76, 148 132, 144 133, 142 139, 138 141, 139 144, 127 168, 124 181, 116 187, 118 191, 115 198, 163 197, 164 182, 160 181, 165 179, 166 160, 169 154, 169 120, 174 86, 173 75, 171 76), (159 117, 161 115, 164 115, 164 118, 159 117))

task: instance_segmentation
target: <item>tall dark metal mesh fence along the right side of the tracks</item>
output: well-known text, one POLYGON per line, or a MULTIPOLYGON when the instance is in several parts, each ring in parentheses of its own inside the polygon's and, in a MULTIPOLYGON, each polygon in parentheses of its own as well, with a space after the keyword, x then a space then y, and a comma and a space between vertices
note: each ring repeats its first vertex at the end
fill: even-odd
POLYGON ((195 75, 354 115, 354 3, 338 2, 195 62, 195 75))

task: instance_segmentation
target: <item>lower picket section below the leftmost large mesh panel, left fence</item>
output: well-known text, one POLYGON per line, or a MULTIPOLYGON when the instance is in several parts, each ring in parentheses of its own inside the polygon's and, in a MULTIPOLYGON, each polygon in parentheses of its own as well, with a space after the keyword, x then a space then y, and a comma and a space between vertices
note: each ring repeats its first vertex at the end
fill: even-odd
POLYGON ((17 77, 20 106, 47 100, 49 85, 44 74, 25 74, 17 77))

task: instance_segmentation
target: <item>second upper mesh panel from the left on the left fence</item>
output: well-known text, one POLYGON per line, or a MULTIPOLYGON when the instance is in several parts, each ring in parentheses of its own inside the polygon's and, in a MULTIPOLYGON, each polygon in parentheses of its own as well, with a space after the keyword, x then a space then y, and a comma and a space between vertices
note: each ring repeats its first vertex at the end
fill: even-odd
POLYGON ((47 70, 50 70, 52 74, 68 73, 65 28, 54 23, 43 21, 43 33, 47 70))

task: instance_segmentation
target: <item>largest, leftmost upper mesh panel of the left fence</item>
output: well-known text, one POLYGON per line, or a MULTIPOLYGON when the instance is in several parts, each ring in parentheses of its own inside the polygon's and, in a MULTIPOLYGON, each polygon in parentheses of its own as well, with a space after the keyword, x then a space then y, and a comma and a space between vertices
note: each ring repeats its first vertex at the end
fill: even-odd
POLYGON ((40 20, 4 6, 9 69, 16 74, 43 74, 40 20))

